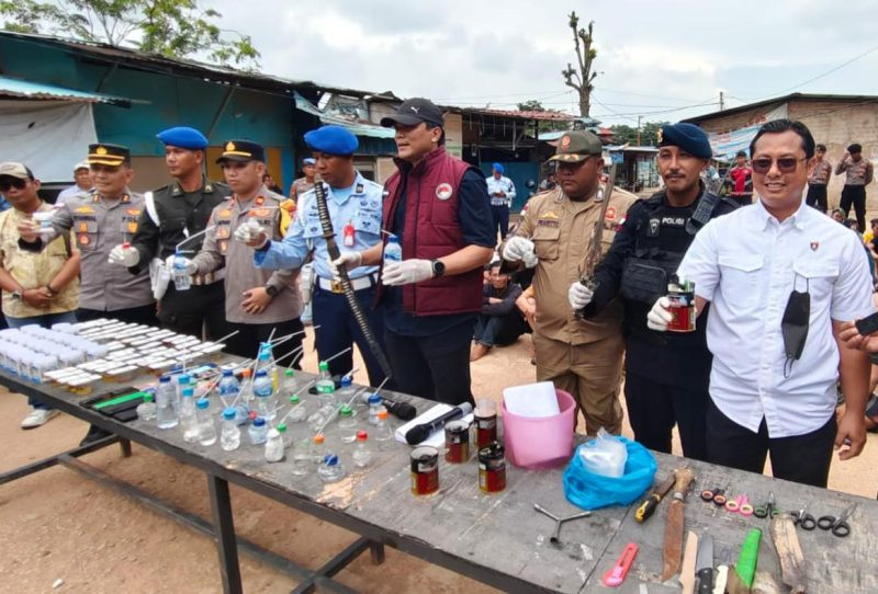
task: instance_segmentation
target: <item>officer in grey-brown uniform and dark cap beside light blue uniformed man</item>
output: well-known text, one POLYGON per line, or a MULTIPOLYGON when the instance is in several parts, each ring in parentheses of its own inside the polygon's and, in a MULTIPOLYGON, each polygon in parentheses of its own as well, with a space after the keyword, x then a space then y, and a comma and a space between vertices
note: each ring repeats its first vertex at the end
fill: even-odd
MULTIPOLYGON (((226 320, 238 334, 228 340, 228 352, 255 357, 259 343, 272 330, 282 336, 303 330, 299 271, 266 271, 254 266, 252 251, 240 239, 248 226, 269 230, 270 239, 283 239, 289 215, 280 208, 284 199, 262 183, 264 149, 256 142, 229 140, 217 163, 223 167, 233 194, 211 213, 201 251, 185 261, 188 274, 207 274, 226 267, 226 320), (252 222, 255 221, 255 222, 252 222)), ((168 266, 172 266, 169 258, 168 266)), ((274 351, 281 357, 302 344, 302 336, 284 342, 274 351)))

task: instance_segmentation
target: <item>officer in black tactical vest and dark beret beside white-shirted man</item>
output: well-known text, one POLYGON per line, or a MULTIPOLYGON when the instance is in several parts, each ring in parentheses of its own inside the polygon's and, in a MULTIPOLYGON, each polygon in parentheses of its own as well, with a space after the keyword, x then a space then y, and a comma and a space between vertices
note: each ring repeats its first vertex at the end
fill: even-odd
POLYGON ((676 422, 683 453, 706 458, 705 414, 711 355, 706 318, 695 332, 654 332, 646 315, 667 285, 695 233, 738 205, 707 192, 700 172, 711 158, 707 135, 691 124, 665 125, 658 141, 658 172, 665 189, 634 203, 610 251, 595 272, 597 288, 572 286, 569 298, 586 317, 597 316, 617 295, 624 306, 624 396, 634 438, 671 453, 676 422))

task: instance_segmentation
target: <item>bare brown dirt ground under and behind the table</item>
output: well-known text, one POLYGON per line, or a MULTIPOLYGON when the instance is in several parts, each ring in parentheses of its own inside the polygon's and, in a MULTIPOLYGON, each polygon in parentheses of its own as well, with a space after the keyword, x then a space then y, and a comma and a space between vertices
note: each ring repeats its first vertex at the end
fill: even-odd
MULTIPOLYGON (((311 335, 308 338, 311 344, 311 335)), ((499 399, 506 386, 533 381, 530 339, 495 349, 472 365, 473 392, 499 399)), ((316 369, 314 353, 304 368, 316 369)), ((364 374, 360 374, 363 376, 364 374)), ((361 381, 363 377, 359 377, 361 381)), ((25 399, 0 392, 0 471, 75 447, 86 424, 67 415, 34 431, 19 429, 25 399)), ((626 425, 624 433, 631 435, 626 425)), ((830 488, 873 498, 878 477, 876 436, 864 454, 833 464, 830 488)), ((675 445, 678 453, 678 445, 675 445)), ((116 446, 82 458, 112 477, 136 484, 189 512, 210 518, 206 481, 199 471, 134 445, 122 458, 116 446)), ((559 489, 561 486, 559 484, 559 489)), ((238 534, 292 561, 317 568, 356 535, 232 488, 238 534)), ((56 467, 0 487, 0 593, 43 592, 219 592, 219 570, 212 539, 166 518, 79 475, 56 467), (53 589, 56 581, 63 583, 53 589)), ((240 555, 245 591, 289 592, 290 575, 240 555)), ((362 592, 481 594, 494 592, 477 582, 393 549, 372 566, 361 556, 336 578, 362 592)))

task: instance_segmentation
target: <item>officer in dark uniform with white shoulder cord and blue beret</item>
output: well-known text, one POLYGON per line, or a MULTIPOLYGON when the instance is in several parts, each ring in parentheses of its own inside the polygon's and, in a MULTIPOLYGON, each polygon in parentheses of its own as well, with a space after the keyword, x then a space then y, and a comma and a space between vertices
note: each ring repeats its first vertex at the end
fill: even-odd
POLYGON ((225 319, 225 270, 192 276, 189 290, 178 292, 168 283, 166 259, 178 245, 182 251, 201 250, 207 220, 216 205, 232 194, 229 187, 204 176, 207 139, 188 127, 167 129, 158 135, 165 144, 165 162, 175 182, 145 194, 145 208, 131 247, 116 245, 110 262, 127 266, 132 274, 149 269, 154 293, 160 299, 158 319, 164 328, 209 339, 227 333, 225 319), (188 238, 192 237, 191 240, 188 238))

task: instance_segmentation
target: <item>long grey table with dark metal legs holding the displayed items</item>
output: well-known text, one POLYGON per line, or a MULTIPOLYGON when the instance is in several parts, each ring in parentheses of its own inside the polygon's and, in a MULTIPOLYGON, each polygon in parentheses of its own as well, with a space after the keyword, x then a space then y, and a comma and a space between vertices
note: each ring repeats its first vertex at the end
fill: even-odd
MULTIPOLYGON (((234 361, 234 357, 228 357, 228 361, 234 361)), ((507 465, 507 489, 502 493, 485 494, 479 489, 474 461, 448 465, 440 458, 440 491, 416 498, 409 491, 409 448, 394 443, 379 452, 365 469, 353 468, 349 464, 349 454, 342 452, 348 476, 340 482, 324 484, 314 472, 304 478, 293 476, 289 461, 266 462, 262 448, 247 445, 246 436, 243 436, 238 450, 226 453, 218 443, 210 447, 185 443, 179 429, 162 431, 153 423, 140 421, 119 423, 80 407, 78 402, 83 400, 82 397, 53 386, 22 382, 5 374, 0 374, 0 384, 20 393, 41 397, 63 412, 112 431, 123 445, 126 441, 135 442, 202 470, 207 478, 213 524, 201 518, 182 519, 189 519, 190 525, 215 538, 225 592, 241 591, 238 549, 299 575, 303 583, 295 592, 306 592, 315 584, 346 592, 349 590, 334 582, 331 575, 364 550, 371 551, 373 562, 381 562, 385 545, 508 592, 606 592, 610 589, 604 586, 600 579, 629 541, 638 542, 640 552, 627 581, 616 591, 633 594, 678 591, 674 580, 673 583, 658 583, 667 510, 664 502, 655 516, 644 524, 634 521, 633 506, 595 511, 588 518, 564 525, 562 546, 549 542, 553 522, 536 513, 533 503, 559 516, 578 511, 564 499, 562 469, 525 471, 507 465), (361 538, 316 571, 292 566, 236 538, 228 483, 336 524, 361 538)), ((137 380, 133 385, 138 385, 137 380)), ((109 390, 113 387, 99 386, 94 393, 100 393, 101 388, 109 390)), ((430 405, 417 398, 413 398, 412 403, 418 412, 430 405)), ((398 424, 398 421, 393 423, 398 424)), ((109 438, 101 445, 115 439, 109 438)), ((327 434, 327 442, 329 445, 337 443, 331 433, 327 434)), ((79 454, 78 450, 65 453, 54 461, 44 460, 13 470, 0 476, 0 484, 52 464, 64 464, 98 480, 108 480, 100 472, 83 469, 83 465, 75 459, 79 454)), ((660 467, 656 480, 683 464, 694 469, 697 480, 687 498, 685 529, 699 534, 709 532, 713 536, 716 563, 719 564, 725 555, 731 555, 734 562, 745 534, 752 527, 759 527, 763 529, 763 545, 758 568, 770 572, 778 582, 780 572, 768 521, 728 513, 702 502, 696 493, 703 488, 729 487, 731 493, 743 492, 754 503, 761 503, 772 491, 780 509, 792 510, 810 503, 809 511, 814 516, 837 515, 857 502, 859 505, 851 519, 848 538, 837 538, 819 528, 810 533, 798 532, 807 560, 809 592, 878 592, 878 556, 874 552, 875 535, 878 535, 878 502, 674 456, 655 456, 660 467)), ((114 487, 138 499, 143 495, 131 486, 114 487)), ((181 513, 146 499, 140 500, 159 511, 181 513)))

